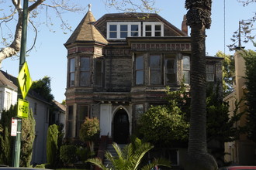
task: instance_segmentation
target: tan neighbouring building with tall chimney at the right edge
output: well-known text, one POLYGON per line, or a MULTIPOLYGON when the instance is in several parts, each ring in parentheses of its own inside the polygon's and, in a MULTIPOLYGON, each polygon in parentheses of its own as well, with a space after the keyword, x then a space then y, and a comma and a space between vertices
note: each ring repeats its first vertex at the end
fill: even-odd
MULTIPOLYGON (((243 56, 240 55, 240 51, 234 54, 235 62, 235 84, 234 92, 230 93, 223 100, 228 102, 229 114, 230 116, 234 115, 234 110, 236 110, 236 102, 240 102, 237 113, 246 111, 246 104, 244 99, 244 93, 246 90, 245 86, 245 63, 243 56)), ((235 127, 243 127, 246 124, 246 114, 244 114, 240 121, 237 124, 234 124, 235 127)), ((234 165, 255 165, 255 144, 253 141, 247 139, 246 134, 241 134, 240 139, 233 142, 227 142, 225 144, 225 152, 228 153, 225 155, 225 161, 231 162, 234 165)))

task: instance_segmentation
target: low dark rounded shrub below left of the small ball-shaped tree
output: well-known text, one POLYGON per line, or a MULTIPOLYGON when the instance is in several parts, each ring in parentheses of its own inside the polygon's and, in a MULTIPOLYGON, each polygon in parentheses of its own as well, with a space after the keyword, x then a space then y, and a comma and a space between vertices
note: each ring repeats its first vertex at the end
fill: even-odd
POLYGON ((61 161, 67 164, 71 164, 77 161, 76 152, 77 147, 74 145, 62 145, 61 146, 61 161))

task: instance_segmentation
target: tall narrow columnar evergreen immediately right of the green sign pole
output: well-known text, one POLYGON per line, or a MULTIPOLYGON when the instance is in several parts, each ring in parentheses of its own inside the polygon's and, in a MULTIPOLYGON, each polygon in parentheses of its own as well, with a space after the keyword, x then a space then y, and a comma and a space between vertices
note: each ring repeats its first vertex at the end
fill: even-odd
POLYGON ((32 109, 29 110, 29 117, 22 119, 22 135, 21 135, 21 167, 29 167, 33 154, 33 141, 35 140, 36 121, 33 117, 32 109))

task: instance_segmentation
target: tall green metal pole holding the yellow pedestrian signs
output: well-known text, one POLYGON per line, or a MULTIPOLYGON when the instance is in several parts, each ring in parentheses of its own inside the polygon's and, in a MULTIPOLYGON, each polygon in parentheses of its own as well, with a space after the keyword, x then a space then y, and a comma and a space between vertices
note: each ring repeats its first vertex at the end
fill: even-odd
MULTIPOLYGON (((27 34, 27 22, 28 22, 28 3, 29 3, 28 0, 23 0, 22 39, 21 39, 21 49, 20 49, 20 56, 19 56, 19 72, 26 61, 25 56, 26 56, 26 34, 27 34)), ((18 100, 19 99, 22 99, 20 85, 18 87, 18 100)), ((19 167, 22 118, 18 118, 17 123, 18 125, 17 125, 17 134, 16 134, 16 141, 15 141, 15 148, 14 148, 14 158, 12 159, 13 167, 19 167)))

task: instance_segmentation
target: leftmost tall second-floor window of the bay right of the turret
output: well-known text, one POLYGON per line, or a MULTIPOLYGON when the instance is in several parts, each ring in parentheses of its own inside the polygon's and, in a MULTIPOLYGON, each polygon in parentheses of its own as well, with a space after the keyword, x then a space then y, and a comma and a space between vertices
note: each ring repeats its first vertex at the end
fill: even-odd
POLYGON ((135 75, 136 75, 136 84, 144 84, 144 59, 143 55, 137 55, 135 58, 135 75))

